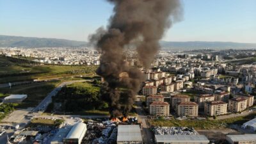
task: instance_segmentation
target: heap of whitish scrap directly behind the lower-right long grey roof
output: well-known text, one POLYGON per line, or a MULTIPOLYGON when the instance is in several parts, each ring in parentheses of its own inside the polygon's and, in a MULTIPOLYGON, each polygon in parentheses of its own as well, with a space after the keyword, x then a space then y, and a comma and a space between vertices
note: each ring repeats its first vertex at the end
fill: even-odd
POLYGON ((160 135, 196 135, 195 129, 188 127, 152 127, 154 134, 160 135))

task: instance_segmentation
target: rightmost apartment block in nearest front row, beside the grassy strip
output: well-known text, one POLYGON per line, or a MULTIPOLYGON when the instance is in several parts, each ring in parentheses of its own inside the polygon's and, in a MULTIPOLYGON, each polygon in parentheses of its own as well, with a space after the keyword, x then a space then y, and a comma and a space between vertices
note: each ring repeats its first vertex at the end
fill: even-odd
POLYGON ((247 99, 245 97, 234 97, 228 100, 228 111, 238 113, 247 108, 247 99))

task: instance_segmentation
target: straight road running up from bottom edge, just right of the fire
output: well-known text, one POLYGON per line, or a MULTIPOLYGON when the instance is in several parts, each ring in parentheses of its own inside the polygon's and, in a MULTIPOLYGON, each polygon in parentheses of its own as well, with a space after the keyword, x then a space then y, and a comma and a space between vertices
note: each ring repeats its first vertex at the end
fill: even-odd
POLYGON ((141 122, 143 143, 154 144, 151 139, 154 140, 154 135, 150 131, 150 127, 147 124, 147 116, 145 115, 143 109, 141 108, 142 102, 136 102, 136 112, 138 113, 138 122, 141 122))

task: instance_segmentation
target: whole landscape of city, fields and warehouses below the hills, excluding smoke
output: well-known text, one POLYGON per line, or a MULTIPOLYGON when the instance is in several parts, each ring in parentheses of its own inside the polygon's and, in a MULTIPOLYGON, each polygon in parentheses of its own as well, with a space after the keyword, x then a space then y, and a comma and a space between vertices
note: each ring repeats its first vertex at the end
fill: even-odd
POLYGON ((162 50, 150 68, 124 55, 145 81, 110 117, 96 49, 0 47, 0 144, 256 143, 255 49, 162 50))

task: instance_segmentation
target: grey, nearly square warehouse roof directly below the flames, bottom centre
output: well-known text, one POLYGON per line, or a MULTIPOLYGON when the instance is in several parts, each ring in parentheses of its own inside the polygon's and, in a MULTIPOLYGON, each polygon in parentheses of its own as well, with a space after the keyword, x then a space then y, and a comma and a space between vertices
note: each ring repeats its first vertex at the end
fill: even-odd
POLYGON ((117 141, 142 141, 140 125, 118 125, 117 141))

